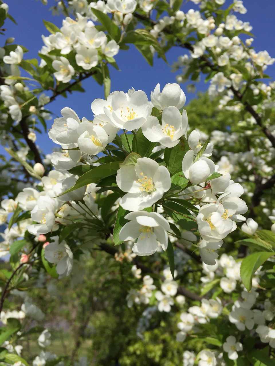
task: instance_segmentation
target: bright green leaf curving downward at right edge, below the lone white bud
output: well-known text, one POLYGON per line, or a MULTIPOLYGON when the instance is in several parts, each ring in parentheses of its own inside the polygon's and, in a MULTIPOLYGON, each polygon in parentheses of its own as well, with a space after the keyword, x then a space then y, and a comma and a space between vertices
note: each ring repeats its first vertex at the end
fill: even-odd
POLYGON ((256 270, 273 255, 275 255, 275 252, 258 252, 250 254, 243 259, 241 264, 241 278, 247 291, 251 290, 252 277, 256 270))

